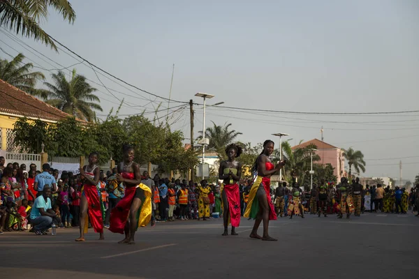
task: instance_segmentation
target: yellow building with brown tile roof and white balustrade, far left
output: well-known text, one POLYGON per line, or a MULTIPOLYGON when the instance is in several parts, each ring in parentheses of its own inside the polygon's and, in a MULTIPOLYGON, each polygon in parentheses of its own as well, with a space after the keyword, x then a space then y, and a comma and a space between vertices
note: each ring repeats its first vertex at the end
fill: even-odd
POLYGON ((19 153, 19 148, 14 144, 14 124, 23 116, 54 123, 71 115, 0 80, 0 156, 6 158, 6 163, 11 161, 27 165, 36 163, 37 168, 41 169, 41 159, 38 154, 19 153))

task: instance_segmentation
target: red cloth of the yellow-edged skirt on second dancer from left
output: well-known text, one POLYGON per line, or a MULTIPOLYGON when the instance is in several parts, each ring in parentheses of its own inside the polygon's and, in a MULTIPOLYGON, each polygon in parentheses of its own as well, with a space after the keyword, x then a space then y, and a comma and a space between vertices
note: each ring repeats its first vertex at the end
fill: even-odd
POLYGON ((125 188, 124 197, 117 203, 114 209, 110 212, 110 227, 111 232, 124 234, 124 227, 126 220, 128 220, 128 213, 133 203, 136 187, 125 188))

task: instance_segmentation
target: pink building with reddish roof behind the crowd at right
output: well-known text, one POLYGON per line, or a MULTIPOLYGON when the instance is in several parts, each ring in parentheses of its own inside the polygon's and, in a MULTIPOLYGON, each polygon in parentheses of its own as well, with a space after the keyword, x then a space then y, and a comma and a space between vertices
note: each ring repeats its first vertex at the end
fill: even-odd
POLYGON ((293 149, 304 148, 309 144, 314 144, 317 146, 316 154, 320 157, 320 160, 316 164, 326 165, 330 164, 332 167, 335 167, 333 174, 337 176, 337 181, 340 181, 342 176, 345 176, 344 170, 344 151, 339 149, 339 147, 332 146, 321 140, 309 140, 308 142, 303 142, 302 144, 293 146, 293 149))

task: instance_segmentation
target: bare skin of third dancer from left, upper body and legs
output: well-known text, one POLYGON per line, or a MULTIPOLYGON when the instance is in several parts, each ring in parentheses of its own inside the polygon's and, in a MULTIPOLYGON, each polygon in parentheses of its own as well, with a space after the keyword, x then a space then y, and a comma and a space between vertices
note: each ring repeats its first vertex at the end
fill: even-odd
MULTIPOLYGON (((221 162, 219 167, 219 179, 223 180, 224 185, 230 184, 230 179, 233 179, 234 183, 240 181, 240 176, 242 176, 242 164, 235 160, 237 156, 237 151, 235 148, 230 148, 227 151, 228 160, 221 162), (224 169, 230 169, 228 174, 224 174, 224 169), (231 169, 237 169, 237 175, 233 174, 231 169)), ((223 236, 228 235, 228 218, 230 217, 230 210, 228 208, 228 200, 226 192, 223 190, 221 193, 221 198, 223 199, 223 223, 224 223, 224 232, 223 236)), ((235 227, 231 227, 231 235, 238 235, 235 232, 235 227)))

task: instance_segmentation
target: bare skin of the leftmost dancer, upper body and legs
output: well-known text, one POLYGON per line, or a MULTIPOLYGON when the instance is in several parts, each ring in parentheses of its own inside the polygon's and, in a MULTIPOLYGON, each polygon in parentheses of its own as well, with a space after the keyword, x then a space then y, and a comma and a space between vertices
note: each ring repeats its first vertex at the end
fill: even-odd
MULTIPOLYGON (((89 156, 89 165, 85 165, 84 167, 80 168, 80 176, 84 180, 85 184, 90 185, 98 185, 99 176, 101 175, 101 171, 96 164, 98 163, 98 156, 92 154, 89 156), (94 169, 96 167, 96 169, 94 169), (89 176, 85 176, 86 172, 91 172, 94 169, 94 178, 91 179, 89 176)), ((87 197, 82 196, 80 199, 80 237, 75 239, 75 241, 86 241, 84 239, 84 220, 87 216, 87 209, 89 209, 89 203, 87 202, 87 197)), ((103 240, 105 237, 103 236, 103 232, 99 235, 99 240, 103 240)))

